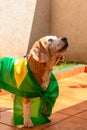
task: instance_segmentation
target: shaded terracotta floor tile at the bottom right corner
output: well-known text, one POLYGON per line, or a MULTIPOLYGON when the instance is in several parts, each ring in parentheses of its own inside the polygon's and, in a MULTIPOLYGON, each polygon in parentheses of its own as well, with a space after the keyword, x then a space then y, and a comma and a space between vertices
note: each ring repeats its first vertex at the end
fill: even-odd
POLYGON ((87 121, 77 118, 71 117, 66 120, 63 120, 59 123, 56 123, 52 126, 49 126, 45 130, 87 130, 87 121))

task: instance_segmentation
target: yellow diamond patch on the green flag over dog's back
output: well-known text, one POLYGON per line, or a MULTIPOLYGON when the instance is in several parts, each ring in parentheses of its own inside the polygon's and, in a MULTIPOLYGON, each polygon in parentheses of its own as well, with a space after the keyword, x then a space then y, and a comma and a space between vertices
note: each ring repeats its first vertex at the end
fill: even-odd
POLYGON ((21 85, 24 80, 28 70, 27 70, 27 61, 26 58, 18 58, 14 63, 14 76, 18 87, 21 85))

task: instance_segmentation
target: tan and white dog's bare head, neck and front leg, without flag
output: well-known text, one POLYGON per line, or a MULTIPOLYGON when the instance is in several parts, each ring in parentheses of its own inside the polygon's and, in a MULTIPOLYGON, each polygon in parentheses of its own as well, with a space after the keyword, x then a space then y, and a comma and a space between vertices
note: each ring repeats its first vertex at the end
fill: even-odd
MULTIPOLYGON (((45 36, 35 42, 27 55, 27 62, 30 66, 30 70, 44 91, 49 85, 53 66, 63 62, 63 55, 65 54, 67 48, 67 38, 45 36)), ((29 118, 31 102, 32 98, 23 98, 25 127, 33 127, 33 123, 29 118)))

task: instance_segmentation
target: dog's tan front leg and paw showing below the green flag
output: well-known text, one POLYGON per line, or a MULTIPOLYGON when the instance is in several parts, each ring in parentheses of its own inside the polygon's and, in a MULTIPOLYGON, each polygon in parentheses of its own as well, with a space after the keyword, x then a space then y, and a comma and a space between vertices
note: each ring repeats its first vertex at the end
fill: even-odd
POLYGON ((30 119, 30 105, 31 105, 31 99, 23 98, 23 112, 24 112, 25 127, 33 127, 33 123, 30 119))

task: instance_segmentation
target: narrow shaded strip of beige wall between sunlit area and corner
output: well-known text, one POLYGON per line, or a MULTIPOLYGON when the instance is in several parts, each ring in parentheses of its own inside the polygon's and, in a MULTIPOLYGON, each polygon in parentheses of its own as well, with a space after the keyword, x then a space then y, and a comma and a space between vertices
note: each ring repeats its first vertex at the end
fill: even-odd
POLYGON ((29 39, 29 50, 39 38, 50 34, 51 0, 37 0, 29 39))

